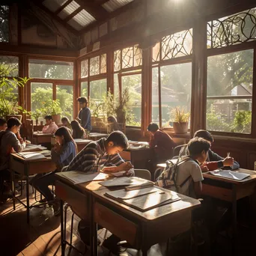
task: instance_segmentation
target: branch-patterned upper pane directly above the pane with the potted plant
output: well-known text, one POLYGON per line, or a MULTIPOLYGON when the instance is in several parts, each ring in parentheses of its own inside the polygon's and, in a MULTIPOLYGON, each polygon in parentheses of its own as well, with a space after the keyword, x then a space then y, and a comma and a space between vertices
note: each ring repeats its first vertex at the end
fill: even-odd
POLYGON ((162 60, 192 54, 192 28, 162 38, 162 60))

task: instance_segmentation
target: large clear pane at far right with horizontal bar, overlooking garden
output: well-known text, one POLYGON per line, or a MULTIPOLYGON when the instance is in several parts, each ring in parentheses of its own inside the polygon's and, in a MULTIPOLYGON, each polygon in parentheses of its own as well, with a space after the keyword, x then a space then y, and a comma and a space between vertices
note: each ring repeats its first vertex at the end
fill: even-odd
POLYGON ((253 49, 208 58, 207 129, 251 133, 253 49))

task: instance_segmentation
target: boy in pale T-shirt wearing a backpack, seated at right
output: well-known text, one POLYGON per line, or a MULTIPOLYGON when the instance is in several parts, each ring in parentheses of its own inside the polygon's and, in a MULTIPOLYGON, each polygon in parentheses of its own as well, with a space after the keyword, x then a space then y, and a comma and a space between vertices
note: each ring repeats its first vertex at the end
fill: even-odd
MULTIPOLYGON (((180 165, 177 165, 176 169, 177 192, 192 198, 199 198, 202 190, 201 181, 204 180, 200 164, 204 163, 208 157, 210 143, 204 138, 195 137, 189 141, 187 147, 189 156, 181 156, 178 160, 180 165)), ((159 180, 164 180, 163 183, 168 184, 169 178, 168 173, 161 174, 159 180)), ((158 181, 156 183, 160 184, 158 181)))

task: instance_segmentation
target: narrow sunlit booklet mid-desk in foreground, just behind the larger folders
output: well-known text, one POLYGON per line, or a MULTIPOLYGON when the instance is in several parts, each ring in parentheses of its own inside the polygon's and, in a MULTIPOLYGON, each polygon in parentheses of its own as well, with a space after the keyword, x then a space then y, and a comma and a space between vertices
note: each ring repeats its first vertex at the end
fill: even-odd
POLYGON ((106 180, 106 181, 100 182, 100 185, 106 186, 106 187, 112 187, 112 186, 142 185, 145 183, 153 184, 153 181, 144 180, 139 177, 115 177, 112 180, 106 180))

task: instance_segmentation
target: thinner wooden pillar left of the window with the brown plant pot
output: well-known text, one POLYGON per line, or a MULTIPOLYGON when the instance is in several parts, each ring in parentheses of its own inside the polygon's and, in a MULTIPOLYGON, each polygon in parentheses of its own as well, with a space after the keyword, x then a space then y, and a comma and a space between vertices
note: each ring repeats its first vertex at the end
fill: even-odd
POLYGON ((152 91, 152 72, 151 72, 151 48, 142 51, 142 73, 141 73, 141 135, 147 131, 151 115, 151 91, 152 91))

